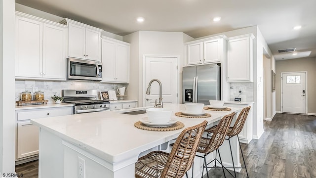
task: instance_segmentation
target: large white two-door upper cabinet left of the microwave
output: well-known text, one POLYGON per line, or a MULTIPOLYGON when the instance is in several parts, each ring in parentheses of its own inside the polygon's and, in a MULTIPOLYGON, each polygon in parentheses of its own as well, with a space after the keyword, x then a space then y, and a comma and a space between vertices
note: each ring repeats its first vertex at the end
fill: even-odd
POLYGON ((66 30, 65 25, 16 12, 15 78, 66 80, 66 30))

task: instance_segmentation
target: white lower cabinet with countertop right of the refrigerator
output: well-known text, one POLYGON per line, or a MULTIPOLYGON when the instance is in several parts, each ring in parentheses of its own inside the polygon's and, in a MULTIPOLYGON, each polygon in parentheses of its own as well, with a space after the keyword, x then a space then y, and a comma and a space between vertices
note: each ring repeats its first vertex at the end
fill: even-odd
MULTIPOLYGON (((233 103, 233 102, 234 101, 229 102, 229 103, 225 102, 224 105, 228 106, 228 107, 238 107, 238 108, 244 108, 244 107, 251 106, 250 111, 249 111, 248 116, 247 116, 247 119, 245 121, 245 124, 243 126, 243 129, 238 134, 240 142, 248 144, 252 140, 252 133, 253 133, 252 132, 252 118, 253 118, 253 116, 252 116, 253 108, 252 107, 253 107, 253 104, 252 104, 252 102, 250 102, 250 103, 233 103)), ((239 114, 240 114, 240 112, 237 113, 237 117, 239 114)), ((235 122, 233 121, 232 124, 234 125, 235 122)))

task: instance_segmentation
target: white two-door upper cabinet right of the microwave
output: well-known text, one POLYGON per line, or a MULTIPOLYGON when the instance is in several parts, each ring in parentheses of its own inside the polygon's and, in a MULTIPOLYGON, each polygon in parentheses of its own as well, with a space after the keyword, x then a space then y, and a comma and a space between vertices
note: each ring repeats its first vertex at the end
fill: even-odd
POLYGON ((129 83, 130 44, 102 37, 102 81, 129 83))

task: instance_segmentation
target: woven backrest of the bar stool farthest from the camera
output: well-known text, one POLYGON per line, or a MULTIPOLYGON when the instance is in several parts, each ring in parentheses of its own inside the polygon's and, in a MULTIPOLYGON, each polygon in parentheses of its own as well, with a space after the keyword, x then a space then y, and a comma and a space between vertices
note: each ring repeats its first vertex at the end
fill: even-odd
POLYGON ((240 111, 238 118, 236 119, 236 122, 234 124, 234 127, 227 133, 227 136, 235 136, 241 132, 246 122, 250 108, 251 106, 248 106, 240 111))

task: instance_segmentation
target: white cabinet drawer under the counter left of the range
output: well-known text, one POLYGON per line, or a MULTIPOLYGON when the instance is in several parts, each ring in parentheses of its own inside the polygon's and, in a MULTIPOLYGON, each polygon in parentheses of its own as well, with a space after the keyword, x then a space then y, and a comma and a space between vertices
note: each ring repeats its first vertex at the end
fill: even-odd
POLYGON ((63 116, 71 114, 72 107, 19 111, 17 112, 17 120, 24 121, 29 119, 63 116))

